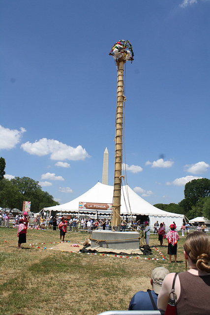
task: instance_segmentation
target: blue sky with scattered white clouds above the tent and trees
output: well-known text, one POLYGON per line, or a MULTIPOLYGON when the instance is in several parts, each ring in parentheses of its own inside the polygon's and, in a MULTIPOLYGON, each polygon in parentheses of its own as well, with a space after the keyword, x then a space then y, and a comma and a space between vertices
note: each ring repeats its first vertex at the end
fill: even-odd
MULTIPOLYGON (((0 156, 60 203, 114 183, 117 70, 125 71, 127 183, 178 203, 210 178, 210 0, 0 0, 0 156), (135 166, 135 167, 134 167, 135 166)), ((83 200, 81 200, 83 201, 83 200)))

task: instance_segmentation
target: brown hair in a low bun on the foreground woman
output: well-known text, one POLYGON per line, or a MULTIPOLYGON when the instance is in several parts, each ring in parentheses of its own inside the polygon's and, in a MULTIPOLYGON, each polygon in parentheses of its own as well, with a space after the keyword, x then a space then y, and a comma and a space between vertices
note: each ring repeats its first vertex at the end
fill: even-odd
POLYGON ((199 270, 210 273, 210 236, 194 231, 187 235, 184 250, 199 270))

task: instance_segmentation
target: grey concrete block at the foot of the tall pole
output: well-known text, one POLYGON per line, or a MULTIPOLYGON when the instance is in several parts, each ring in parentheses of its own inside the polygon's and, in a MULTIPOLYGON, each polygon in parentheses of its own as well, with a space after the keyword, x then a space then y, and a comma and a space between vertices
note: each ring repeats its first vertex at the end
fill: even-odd
POLYGON ((137 250, 139 249, 138 232, 112 232, 112 231, 92 231, 91 248, 100 246, 113 250, 137 250), (97 242, 95 244, 95 242, 97 242))

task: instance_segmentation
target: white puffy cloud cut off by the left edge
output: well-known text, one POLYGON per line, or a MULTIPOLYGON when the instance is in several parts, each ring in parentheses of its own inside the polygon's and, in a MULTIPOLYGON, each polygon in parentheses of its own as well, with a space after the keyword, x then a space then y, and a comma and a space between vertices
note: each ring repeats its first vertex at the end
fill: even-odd
POLYGON ((25 128, 21 127, 20 131, 17 129, 9 129, 0 126, 0 150, 10 150, 15 148, 16 144, 21 141, 25 128))

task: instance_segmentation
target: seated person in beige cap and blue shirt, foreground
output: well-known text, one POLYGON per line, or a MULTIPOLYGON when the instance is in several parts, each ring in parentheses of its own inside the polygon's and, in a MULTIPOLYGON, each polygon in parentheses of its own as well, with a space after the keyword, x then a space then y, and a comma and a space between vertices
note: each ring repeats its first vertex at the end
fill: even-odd
POLYGON ((160 291, 163 279, 169 274, 168 269, 164 267, 157 267, 153 269, 150 278, 152 290, 148 289, 147 292, 138 291, 132 297, 128 311, 153 311, 157 310, 157 297, 160 291), (152 300, 155 307, 153 306, 152 300))

